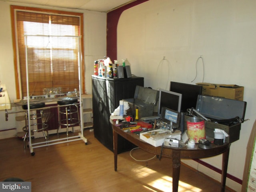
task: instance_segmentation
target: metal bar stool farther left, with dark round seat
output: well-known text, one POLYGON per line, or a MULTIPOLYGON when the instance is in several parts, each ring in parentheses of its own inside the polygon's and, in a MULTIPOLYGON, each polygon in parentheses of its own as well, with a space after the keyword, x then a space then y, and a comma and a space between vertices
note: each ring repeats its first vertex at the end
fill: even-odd
MULTIPOLYGON (((36 104, 30 104, 30 110, 31 109, 38 109, 38 108, 43 108, 45 107, 45 103, 36 103, 36 104)), ((28 105, 23 105, 22 108, 24 110, 28 110, 28 105)), ((48 122, 48 120, 52 117, 51 113, 45 113, 44 110, 40 110, 40 113, 35 113, 35 114, 30 114, 30 118, 28 118, 28 111, 26 111, 25 113, 25 126, 22 128, 22 130, 25 133, 24 136, 24 140, 23 140, 23 146, 24 149, 26 149, 25 147, 25 142, 26 139, 28 140, 29 138, 29 129, 28 129, 28 120, 36 120, 36 123, 30 124, 30 132, 42 132, 44 134, 44 138, 46 140, 46 142, 49 140, 48 137, 48 124, 46 122, 48 122), (41 126, 40 128, 36 128, 36 129, 31 129, 31 126, 41 126), (45 134, 46 132, 46 134, 45 134)))

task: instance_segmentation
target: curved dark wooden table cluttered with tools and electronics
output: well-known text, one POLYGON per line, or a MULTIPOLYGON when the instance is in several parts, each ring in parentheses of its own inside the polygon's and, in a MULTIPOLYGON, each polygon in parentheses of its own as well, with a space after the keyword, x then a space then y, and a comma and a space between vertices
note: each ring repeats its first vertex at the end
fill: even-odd
POLYGON ((184 148, 173 148, 173 147, 154 147, 143 140, 140 140, 139 136, 134 133, 124 132, 120 127, 115 126, 112 123, 113 129, 113 146, 114 146, 114 170, 117 171, 117 146, 118 146, 118 135, 122 136, 126 140, 132 142, 142 150, 151 154, 161 155, 162 157, 172 158, 172 191, 178 192, 178 182, 180 177, 180 159, 198 159, 212 157, 222 154, 222 176, 221 176, 221 192, 225 191, 227 168, 228 168, 228 156, 230 143, 224 143, 222 146, 216 146, 212 144, 210 149, 198 148, 196 144, 195 149, 184 148))

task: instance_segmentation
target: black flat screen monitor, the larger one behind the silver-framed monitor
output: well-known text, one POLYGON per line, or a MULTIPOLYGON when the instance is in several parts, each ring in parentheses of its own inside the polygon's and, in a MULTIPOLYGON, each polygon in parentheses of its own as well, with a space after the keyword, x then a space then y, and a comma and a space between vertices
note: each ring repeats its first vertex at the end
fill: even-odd
POLYGON ((186 112, 189 108, 196 108, 198 95, 202 94, 202 86, 179 82, 170 82, 170 91, 181 93, 181 112, 186 112))

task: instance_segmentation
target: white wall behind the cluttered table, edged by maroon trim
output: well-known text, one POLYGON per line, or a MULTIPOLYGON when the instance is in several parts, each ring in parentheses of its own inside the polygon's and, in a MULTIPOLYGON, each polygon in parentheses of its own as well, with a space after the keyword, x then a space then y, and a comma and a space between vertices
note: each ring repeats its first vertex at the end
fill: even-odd
MULTIPOLYGON (((241 180, 256 118, 255 10, 254 0, 149 0, 124 11, 118 22, 118 60, 127 58, 132 74, 144 77, 145 86, 169 90, 170 81, 202 82, 202 60, 191 82, 200 56, 204 82, 244 86, 250 121, 232 143, 228 164, 228 173, 241 180)), ((205 161, 221 169, 221 156, 205 161)), ((219 180, 219 174, 210 174, 219 180)), ((227 186, 240 190, 229 179, 227 186)))

